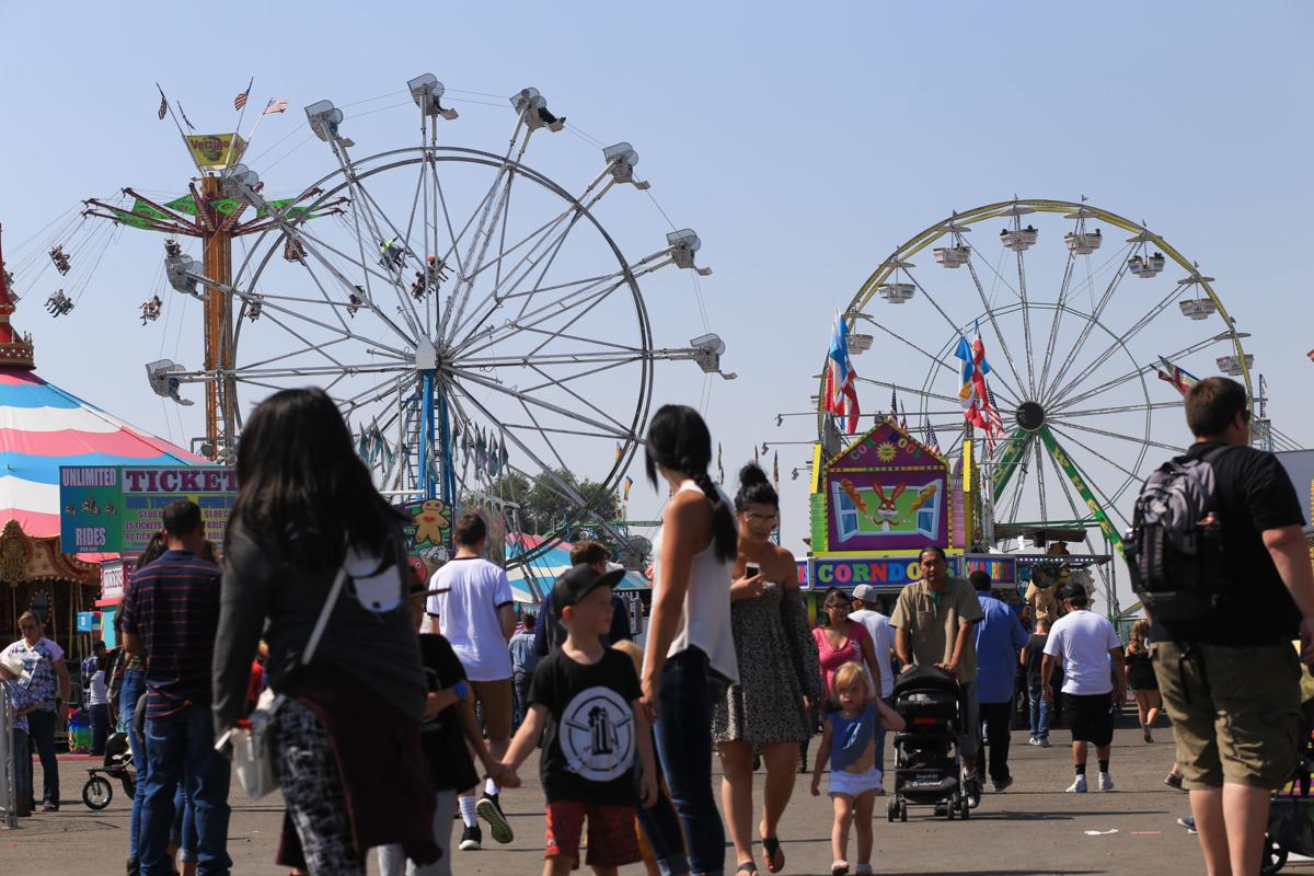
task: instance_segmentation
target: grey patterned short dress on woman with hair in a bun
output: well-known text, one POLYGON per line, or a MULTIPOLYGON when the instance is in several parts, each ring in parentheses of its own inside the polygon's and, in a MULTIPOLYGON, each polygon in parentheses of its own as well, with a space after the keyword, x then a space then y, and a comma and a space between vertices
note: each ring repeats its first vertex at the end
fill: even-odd
POLYGON ((717 742, 803 742, 811 722, 803 697, 821 697, 821 666, 798 587, 767 582, 757 599, 731 603, 740 680, 712 714, 717 742))

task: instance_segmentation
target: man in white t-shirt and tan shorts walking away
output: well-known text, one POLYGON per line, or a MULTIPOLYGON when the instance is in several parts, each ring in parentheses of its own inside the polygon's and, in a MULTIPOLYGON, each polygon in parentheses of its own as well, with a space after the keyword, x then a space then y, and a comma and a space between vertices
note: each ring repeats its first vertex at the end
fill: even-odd
MULTIPOLYGON (((515 632, 515 603, 506 570, 482 554, 487 550, 487 524, 477 514, 465 514, 452 531, 456 557, 430 579, 428 613, 465 667, 470 692, 484 709, 484 732, 489 751, 501 759, 511 743, 511 653, 507 642, 515 632)), ((493 839, 509 843, 511 825, 498 800, 501 789, 493 779, 484 795, 457 797, 465 831, 461 851, 477 851, 484 842, 478 818, 489 822, 493 839)))

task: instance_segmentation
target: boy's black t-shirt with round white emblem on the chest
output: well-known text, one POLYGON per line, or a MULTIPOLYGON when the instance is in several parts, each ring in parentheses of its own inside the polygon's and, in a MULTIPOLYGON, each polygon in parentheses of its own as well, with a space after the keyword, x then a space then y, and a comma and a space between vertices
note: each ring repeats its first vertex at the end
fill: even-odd
POLYGON ((548 802, 635 805, 639 735, 631 704, 639 696, 635 665, 620 651, 607 647, 593 665, 560 649, 543 658, 530 703, 548 711, 539 762, 548 802))

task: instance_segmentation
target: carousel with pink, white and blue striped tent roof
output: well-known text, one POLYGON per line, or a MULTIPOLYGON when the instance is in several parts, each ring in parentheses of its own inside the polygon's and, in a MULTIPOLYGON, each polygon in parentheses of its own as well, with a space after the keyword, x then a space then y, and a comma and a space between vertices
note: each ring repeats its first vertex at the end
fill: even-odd
MULTIPOLYGON (((109 557, 60 550, 59 466, 202 460, 42 380, 32 335, 12 323, 16 303, 0 248, 0 641, 18 638, 18 616, 33 611, 46 636, 78 657, 100 637, 99 625, 79 637, 78 619, 97 617, 100 563, 109 557)), ((118 598, 108 602, 112 612, 118 598)))

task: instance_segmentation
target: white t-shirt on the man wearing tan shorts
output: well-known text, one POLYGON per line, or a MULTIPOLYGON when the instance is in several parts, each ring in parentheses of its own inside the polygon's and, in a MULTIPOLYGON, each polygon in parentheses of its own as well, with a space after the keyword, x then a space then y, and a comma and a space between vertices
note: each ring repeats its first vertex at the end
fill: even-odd
POLYGON ((499 609, 510 605, 506 570, 487 559, 451 559, 434 573, 428 613, 438 615, 443 636, 472 682, 511 678, 511 651, 502 634, 499 609))

